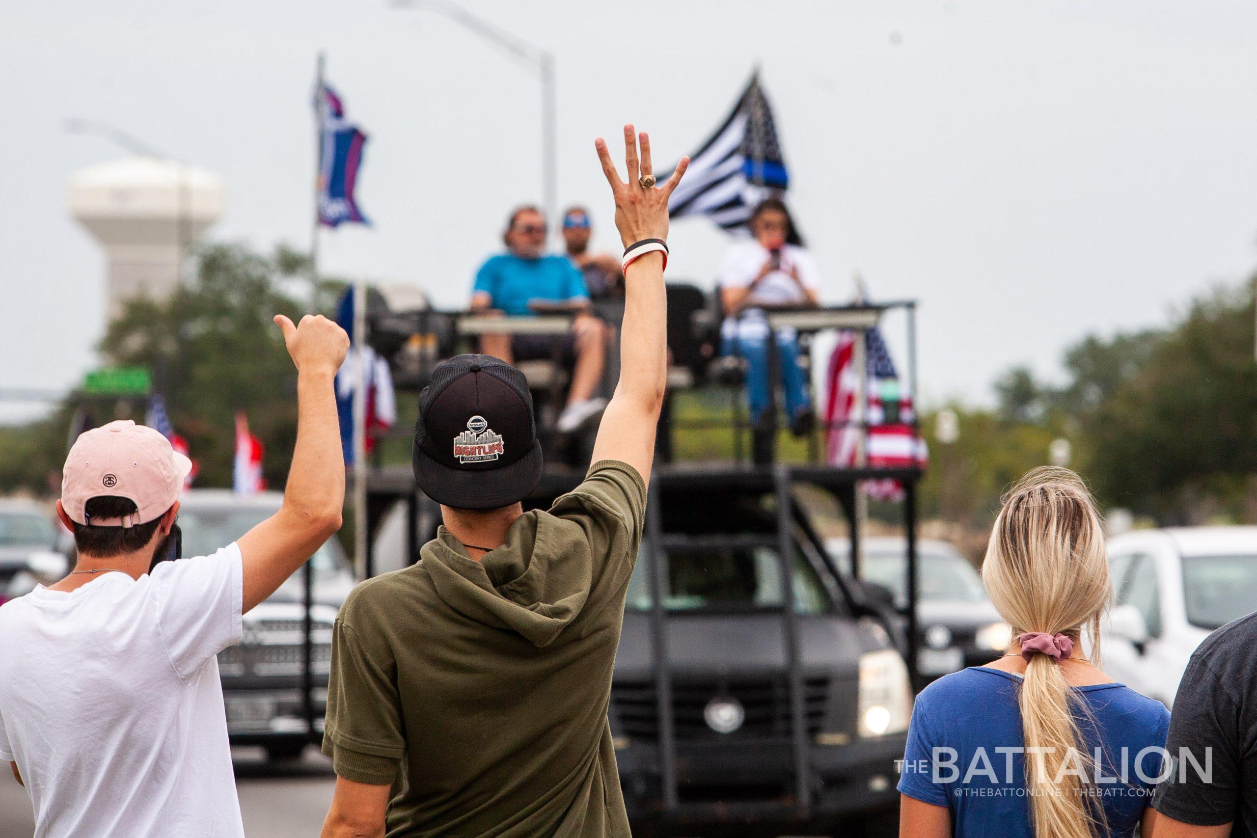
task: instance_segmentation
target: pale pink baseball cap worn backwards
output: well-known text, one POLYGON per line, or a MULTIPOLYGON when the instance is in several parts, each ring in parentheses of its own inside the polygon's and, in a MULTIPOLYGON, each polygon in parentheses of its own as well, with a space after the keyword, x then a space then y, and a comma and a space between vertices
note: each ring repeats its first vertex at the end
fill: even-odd
POLYGON ((62 506, 79 524, 147 524, 175 505, 191 470, 192 461, 170 447, 158 431, 118 420, 84 431, 74 441, 62 470, 62 506), (89 521, 84 505, 102 495, 126 498, 138 511, 89 521))

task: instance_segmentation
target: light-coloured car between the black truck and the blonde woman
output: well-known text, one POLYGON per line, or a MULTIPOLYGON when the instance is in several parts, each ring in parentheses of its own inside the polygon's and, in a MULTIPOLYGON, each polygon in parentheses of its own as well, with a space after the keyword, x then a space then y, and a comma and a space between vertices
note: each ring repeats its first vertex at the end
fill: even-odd
MULTIPOLYGON (((830 539, 830 554, 850 573, 850 541, 830 539)), ((901 538, 864 540, 860 578, 890 590, 895 607, 908 607, 908 543, 901 538)), ((1012 628, 991 604, 982 578, 968 559, 947 541, 924 539, 916 544, 918 668, 933 681, 967 666, 982 666, 999 657, 1012 642, 1012 628)))

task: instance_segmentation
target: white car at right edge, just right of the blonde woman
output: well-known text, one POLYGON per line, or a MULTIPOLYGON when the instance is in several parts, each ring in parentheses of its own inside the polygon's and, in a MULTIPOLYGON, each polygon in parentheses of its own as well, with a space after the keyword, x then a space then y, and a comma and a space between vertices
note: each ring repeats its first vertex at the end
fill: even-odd
POLYGON ((1166 706, 1200 641, 1257 611, 1257 526, 1126 533, 1109 541, 1109 567, 1104 668, 1166 706))

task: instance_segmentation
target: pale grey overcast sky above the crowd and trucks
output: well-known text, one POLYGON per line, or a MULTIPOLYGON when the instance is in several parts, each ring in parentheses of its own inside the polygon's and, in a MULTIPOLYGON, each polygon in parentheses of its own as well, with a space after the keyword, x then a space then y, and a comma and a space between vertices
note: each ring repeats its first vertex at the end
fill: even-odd
MULTIPOLYGON (((1257 4, 469 8, 554 50, 559 200, 590 205, 608 249, 593 138, 634 121, 672 160, 759 63, 823 295, 845 300, 860 271, 875 297, 920 300, 929 402, 988 400, 1011 364, 1057 374, 1081 335, 1163 323, 1257 265, 1257 4)), ((103 259, 65 180, 121 152, 64 119, 221 175, 210 236, 305 246, 321 49, 371 134, 358 196, 375 221, 327 234, 324 268, 465 299, 508 209, 541 197, 538 85, 491 45, 385 0, 10 0, 0 389, 65 388, 96 363, 103 259)), ((689 219, 670 237, 670 278, 709 285, 724 236, 689 219)))

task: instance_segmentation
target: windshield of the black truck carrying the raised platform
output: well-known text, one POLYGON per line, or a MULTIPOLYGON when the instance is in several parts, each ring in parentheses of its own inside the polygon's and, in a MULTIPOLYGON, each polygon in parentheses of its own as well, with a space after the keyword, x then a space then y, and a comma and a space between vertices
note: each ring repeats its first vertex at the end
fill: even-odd
MULTIPOLYGON (((669 611, 758 611, 781 608, 781 563, 778 553, 766 547, 695 547, 661 550, 667 563, 664 607, 669 611)), ((627 607, 650 611, 650 555, 645 543, 628 579, 627 607)), ((816 572, 801 555, 794 558, 794 611, 820 614, 828 598, 816 572)))

